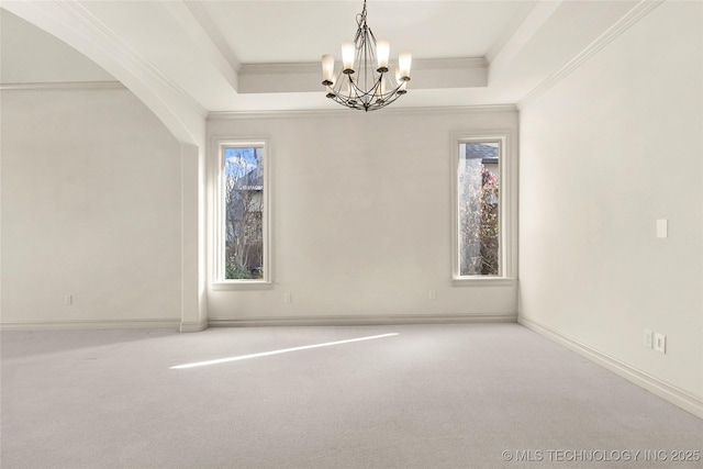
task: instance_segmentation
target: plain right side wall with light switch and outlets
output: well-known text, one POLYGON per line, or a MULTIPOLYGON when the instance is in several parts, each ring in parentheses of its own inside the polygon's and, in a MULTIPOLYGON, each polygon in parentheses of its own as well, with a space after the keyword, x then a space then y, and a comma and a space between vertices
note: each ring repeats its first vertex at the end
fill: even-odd
POLYGON ((662 3, 522 110, 520 191, 521 316, 699 410, 702 7, 662 3))

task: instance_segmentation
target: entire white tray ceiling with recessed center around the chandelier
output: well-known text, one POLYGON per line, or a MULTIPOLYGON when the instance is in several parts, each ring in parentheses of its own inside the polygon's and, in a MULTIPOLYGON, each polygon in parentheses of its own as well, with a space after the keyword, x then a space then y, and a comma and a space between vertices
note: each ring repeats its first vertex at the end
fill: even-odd
MULTIPOLYGON (((514 104, 622 30, 640 4, 369 0, 368 24, 391 42, 391 56, 413 53, 409 93, 394 107, 514 104)), ((212 113, 336 109, 320 83, 320 57, 341 59, 362 0, 3 1, 2 8, 60 37, 141 97, 180 99, 212 113)), ((71 66, 70 52, 59 51, 65 46, 37 47, 45 33, 5 23, 4 83, 51 81, 60 75, 52 67, 62 66, 72 70, 69 80, 100 77, 92 70, 81 79, 76 70, 89 67, 71 66)))

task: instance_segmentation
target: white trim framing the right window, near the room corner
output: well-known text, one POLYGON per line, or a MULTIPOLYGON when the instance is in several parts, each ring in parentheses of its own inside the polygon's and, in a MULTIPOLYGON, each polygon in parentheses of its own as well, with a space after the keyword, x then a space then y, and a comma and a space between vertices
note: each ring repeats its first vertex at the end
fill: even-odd
POLYGON ((451 134, 451 281, 454 286, 513 284, 517 275, 517 158, 512 131, 496 130, 451 134), (501 147, 499 171, 500 196, 500 266, 498 276, 461 276, 459 272, 459 144, 498 142, 501 147))

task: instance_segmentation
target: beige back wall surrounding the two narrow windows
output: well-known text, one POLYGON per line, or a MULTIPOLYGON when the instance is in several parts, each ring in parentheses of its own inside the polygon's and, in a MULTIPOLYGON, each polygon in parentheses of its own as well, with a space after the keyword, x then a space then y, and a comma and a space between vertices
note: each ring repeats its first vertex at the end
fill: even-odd
POLYGON ((514 282, 451 282, 450 135, 516 127, 515 111, 211 120, 211 138, 270 144, 274 283, 211 290, 210 319, 514 315, 514 282))

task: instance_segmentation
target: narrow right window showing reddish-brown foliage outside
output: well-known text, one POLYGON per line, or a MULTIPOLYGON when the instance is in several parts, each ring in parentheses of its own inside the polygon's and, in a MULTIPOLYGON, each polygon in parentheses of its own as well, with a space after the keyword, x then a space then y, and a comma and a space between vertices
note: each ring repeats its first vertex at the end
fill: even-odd
POLYGON ((454 277, 506 277, 505 137, 464 137, 455 143, 454 277))

